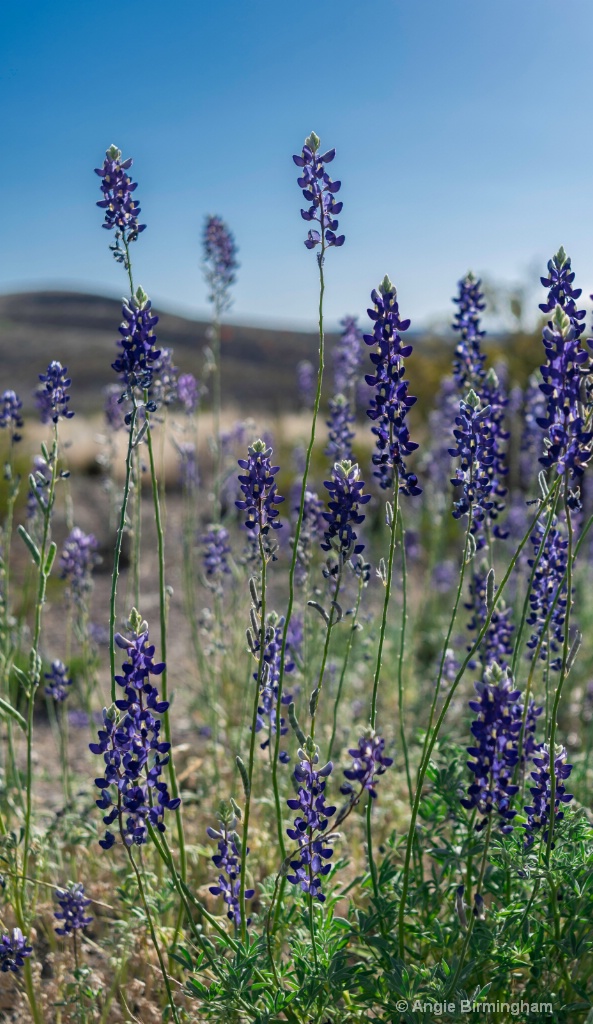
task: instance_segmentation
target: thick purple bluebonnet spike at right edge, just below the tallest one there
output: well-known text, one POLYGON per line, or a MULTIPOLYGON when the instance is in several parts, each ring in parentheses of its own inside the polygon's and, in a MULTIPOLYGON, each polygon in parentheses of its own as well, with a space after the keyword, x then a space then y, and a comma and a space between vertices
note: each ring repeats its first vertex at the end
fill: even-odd
MULTIPOLYGON (((544 328, 544 348, 548 361, 541 367, 543 382, 540 389, 546 397, 545 416, 538 420, 547 431, 545 452, 540 462, 546 469, 567 474, 569 482, 578 483, 591 458, 593 432, 585 430, 581 386, 588 356, 579 341, 579 331, 562 306, 554 308, 551 321, 544 328)), ((570 495, 571 508, 580 508, 577 495, 570 495)))

